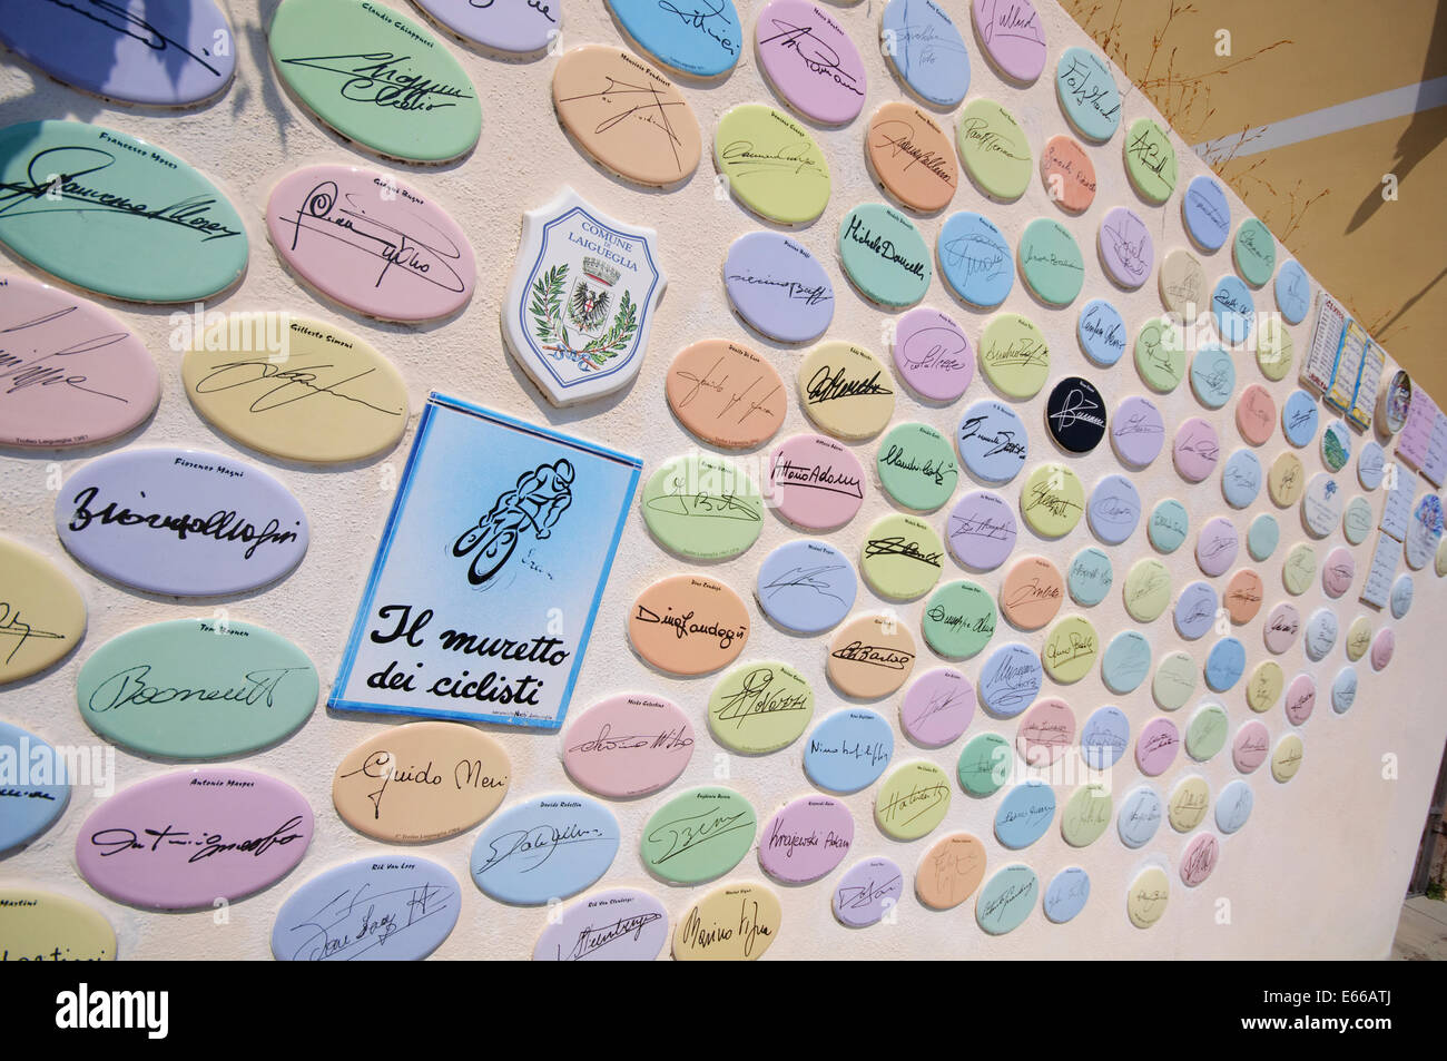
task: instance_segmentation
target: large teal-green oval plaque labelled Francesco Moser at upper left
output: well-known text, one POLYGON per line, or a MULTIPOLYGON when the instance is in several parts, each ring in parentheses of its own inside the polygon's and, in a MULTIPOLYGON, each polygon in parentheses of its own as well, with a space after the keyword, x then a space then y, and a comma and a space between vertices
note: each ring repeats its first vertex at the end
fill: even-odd
POLYGON ((126 133, 80 122, 0 129, 0 243, 75 287, 192 303, 246 271, 246 227, 226 195, 126 133))

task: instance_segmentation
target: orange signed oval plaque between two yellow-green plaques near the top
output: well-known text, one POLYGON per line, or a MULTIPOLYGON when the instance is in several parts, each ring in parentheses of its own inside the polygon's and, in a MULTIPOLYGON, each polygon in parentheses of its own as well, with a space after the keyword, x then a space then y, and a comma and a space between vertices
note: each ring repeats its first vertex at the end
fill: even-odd
POLYGON ((949 135, 910 103, 891 100, 874 111, 864 158, 886 194, 910 210, 943 210, 959 187, 949 135))

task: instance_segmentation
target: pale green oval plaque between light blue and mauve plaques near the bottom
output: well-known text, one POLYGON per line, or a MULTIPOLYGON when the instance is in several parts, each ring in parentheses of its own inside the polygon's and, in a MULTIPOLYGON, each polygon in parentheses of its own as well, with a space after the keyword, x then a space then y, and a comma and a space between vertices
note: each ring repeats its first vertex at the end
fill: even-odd
POLYGON ((664 880, 702 884, 739 864, 757 827, 752 805, 734 789, 690 789, 653 812, 642 827, 640 854, 664 880))

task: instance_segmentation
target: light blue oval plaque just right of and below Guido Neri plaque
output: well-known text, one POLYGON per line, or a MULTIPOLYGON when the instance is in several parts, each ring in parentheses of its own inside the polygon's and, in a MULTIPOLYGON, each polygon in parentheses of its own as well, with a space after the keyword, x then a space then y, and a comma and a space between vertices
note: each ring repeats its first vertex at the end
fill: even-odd
POLYGON ((592 884, 618 854, 618 821, 587 796, 557 793, 514 803, 478 834, 472 879, 485 895, 543 906, 592 884))

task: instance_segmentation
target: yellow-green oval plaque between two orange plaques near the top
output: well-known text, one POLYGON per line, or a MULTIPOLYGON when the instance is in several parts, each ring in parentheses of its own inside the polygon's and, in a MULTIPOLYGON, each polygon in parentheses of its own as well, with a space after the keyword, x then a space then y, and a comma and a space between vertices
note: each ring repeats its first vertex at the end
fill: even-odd
POLYGON ((763 103, 724 111, 713 130, 713 164, 734 198, 765 221, 807 224, 829 204, 833 181, 818 140, 763 103))

